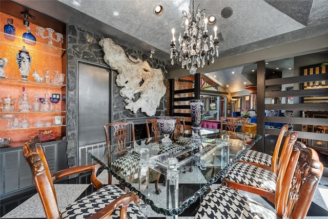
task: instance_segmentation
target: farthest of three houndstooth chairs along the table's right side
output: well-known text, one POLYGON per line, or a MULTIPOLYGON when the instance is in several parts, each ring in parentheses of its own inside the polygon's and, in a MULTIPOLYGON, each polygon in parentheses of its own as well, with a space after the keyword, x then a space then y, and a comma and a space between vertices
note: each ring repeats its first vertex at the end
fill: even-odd
MULTIPOLYGON (((275 146, 272 156, 267 153, 260 152, 260 151, 249 150, 242 157, 240 157, 238 162, 252 164, 252 165, 270 170, 271 172, 274 172, 277 174, 281 142, 282 142, 284 133, 286 131, 288 131, 288 125, 283 125, 280 128, 280 132, 279 132, 276 146, 275 146)), ((287 141, 285 141, 285 143, 283 144, 281 154, 284 154, 284 152, 286 150, 286 146, 288 145, 288 141, 289 141, 289 139, 287 141)))

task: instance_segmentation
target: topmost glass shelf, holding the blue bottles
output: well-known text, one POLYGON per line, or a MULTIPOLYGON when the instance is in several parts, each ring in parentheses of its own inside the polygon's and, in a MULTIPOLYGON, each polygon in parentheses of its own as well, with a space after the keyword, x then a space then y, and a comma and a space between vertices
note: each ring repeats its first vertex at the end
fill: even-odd
MULTIPOLYGON (((24 39, 25 41, 29 41, 28 39, 24 39)), ((63 54, 65 53, 65 49, 61 49, 59 47, 55 47, 55 46, 51 46, 49 44, 43 44, 43 43, 38 43, 38 42, 34 42, 35 45, 31 46, 28 45, 26 43, 23 42, 23 37, 19 37, 19 36, 13 36, 4 32, 0 32, 0 43, 1 44, 6 44, 9 46, 14 46, 17 47, 19 49, 22 49, 23 46, 25 46, 26 50, 28 51, 36 51, 36 52, 42 52, 42 53, 46 53, 49 55, 55 55, 55 56, 63 56, 63 54), (9 41, 8 39, 5 38, 5 35, 8 35, 10 37, 15 37, 14 41, 9 41)))

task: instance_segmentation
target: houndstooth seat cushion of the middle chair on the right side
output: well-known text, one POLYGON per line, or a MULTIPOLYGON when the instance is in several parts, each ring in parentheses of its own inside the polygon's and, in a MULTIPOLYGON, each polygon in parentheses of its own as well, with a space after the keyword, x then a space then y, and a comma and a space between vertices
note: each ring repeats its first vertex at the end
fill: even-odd
POLYGON ((270 192, 276 191, 277 175, 254 165, 237 162, 228 169, 226 180, 249 185, 270 192))

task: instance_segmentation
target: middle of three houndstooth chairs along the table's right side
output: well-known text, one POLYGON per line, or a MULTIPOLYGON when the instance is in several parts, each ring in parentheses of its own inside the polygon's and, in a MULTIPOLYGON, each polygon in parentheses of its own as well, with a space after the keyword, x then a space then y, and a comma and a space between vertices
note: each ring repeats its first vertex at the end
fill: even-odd
POLYGON ((286 150, 279 160, 281 164, 277 174, 251 164, 236 162, 227 170, 222 185, 261 195, 274 203, 276 188, 280 186, 277 185, 279 183, 278 178, 285 174, 293 145, 297 140, 297 132, 289 131, 286 139, 289 140, 288 146, 286 146, 286 150))

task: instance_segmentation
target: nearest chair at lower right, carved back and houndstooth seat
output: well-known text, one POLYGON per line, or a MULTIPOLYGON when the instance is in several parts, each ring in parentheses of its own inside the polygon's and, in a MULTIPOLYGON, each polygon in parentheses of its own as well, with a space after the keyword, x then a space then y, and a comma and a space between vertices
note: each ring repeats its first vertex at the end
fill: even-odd
POLYGON ((281 183, 276 188, 275 211, 234 189, 218 186, 203 198, 195 218, 305 218, 322 171, 317 152, 296 142, 286 173, 278 179, 281 183))

